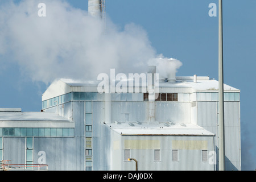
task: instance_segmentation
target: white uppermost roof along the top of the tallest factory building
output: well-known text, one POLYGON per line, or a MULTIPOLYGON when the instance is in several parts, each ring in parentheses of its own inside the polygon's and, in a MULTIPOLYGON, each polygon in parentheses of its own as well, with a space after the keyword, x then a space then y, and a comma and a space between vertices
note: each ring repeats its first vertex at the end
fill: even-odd
MULTIPOLYGON (((128 80, 126 82, 127 88, 129 87, 128 80)), ((42 100, 48 100, 70 92, 98 92, 97 86, 101 81, 82 81, 72 79, 60 79, 52 82, 43 93, 42 100)), ((120 81, 115 81, 117 84, 120 81)), ((141 81, 142 82, 142 81, 141 81)), ((120 84, 119 84, 120 85, 120 84)), ((135 84, 134 84, 135 85, 135 84)), ((135 85, 136 86, 136 85, 135 85)), ((141 86, 141 85, 139 85, 141 86)), ((196 82, 193 81, 192 76, 177 76, 175 82, 164 82, 158 80, 159 92, 161 89, 179 89, 176 92, 218 92, 218 81, 210 79, 208 76, 197 76, 196 82)), ((166 90, 164 91, 166 92, 166 90)), ((224 84, 224 92, 240 92, 239 89, 224 84)))

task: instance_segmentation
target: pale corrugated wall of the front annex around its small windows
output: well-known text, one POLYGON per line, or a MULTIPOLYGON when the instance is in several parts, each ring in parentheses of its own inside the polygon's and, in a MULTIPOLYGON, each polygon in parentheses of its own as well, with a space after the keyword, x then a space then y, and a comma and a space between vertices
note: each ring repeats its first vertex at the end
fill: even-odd
MULTIPOLYGON (((143 148, 143 149, 130 149, 130 157, 138 160, 138 170, 214 170, 214 164, 208 162, 202 162, 201 151, 208 150, 214 151, 213 137, 212 136, 199 136, 199 137, 188 137, 188 136, 123 136, 123 143, 126 140, 133 140, 133 142, 138 141, 141 143, 143 140, 149 143, 149 146, 154 146, 155 141, 160 142, 160 161, 154 161, 154 149, 143 148), (188 149, 178 149, 179 150, 179 161, 172 161, 172 143, 175 141, 188 141, 187 143, 195 144, 196 146, 191 146, 193 150, 188 149), (189 142, 191 141, 191 142, 189 142), (205 142, 207 142, 207 148, 205 148, 205 142), (201 143, 202 145, 198 145, 201 143), (195 147, 197 150, 195 150, 195 147)), ((187 148, 187 147, 185 147, 187 148)), ((189 148, 189 147, 188 147, 189 148)), ((123 154, 125 146, 119 151, 123 154)), ((118 161, 117 161, 118 162, 118 161)), ((124 156, 122 155, 121 161, 123 163, 123 170, 135 170, 135 163, 133 161, 124 161, 124 156)))

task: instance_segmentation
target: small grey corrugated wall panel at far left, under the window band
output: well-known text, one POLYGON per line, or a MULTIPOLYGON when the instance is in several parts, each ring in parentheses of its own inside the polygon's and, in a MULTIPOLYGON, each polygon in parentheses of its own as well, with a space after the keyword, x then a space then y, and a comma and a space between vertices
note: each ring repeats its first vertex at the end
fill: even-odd
POLYGON ((26 164, 26 138, 3 137, 3 159, 11 164, 26 164))

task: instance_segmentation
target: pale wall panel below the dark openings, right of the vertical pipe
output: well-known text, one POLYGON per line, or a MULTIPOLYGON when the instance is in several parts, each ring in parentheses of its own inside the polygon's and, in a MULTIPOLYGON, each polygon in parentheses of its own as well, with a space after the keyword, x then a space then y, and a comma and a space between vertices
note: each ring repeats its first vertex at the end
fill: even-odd
POLYGON ((155 121, 190 122, 190 102, 155 102, 155 121))

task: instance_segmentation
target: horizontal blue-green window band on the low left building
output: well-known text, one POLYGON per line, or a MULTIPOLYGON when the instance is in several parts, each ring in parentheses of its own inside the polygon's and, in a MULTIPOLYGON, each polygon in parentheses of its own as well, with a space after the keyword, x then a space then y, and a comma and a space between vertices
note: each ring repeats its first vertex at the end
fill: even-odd
POLYGON ((0 137, 74 137, 72 128, 0 128, 0 137))

